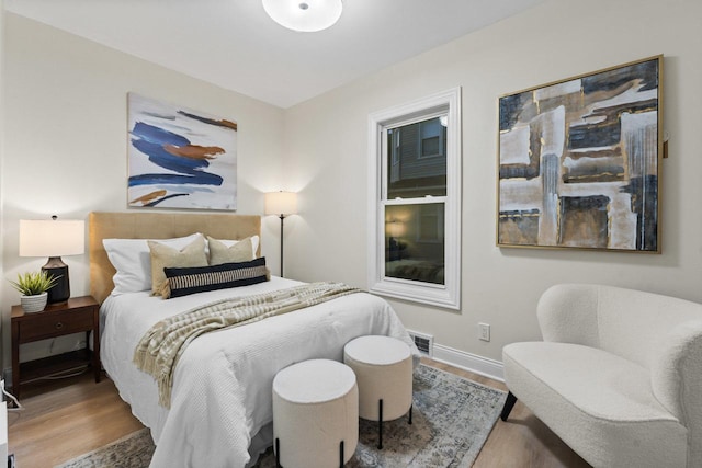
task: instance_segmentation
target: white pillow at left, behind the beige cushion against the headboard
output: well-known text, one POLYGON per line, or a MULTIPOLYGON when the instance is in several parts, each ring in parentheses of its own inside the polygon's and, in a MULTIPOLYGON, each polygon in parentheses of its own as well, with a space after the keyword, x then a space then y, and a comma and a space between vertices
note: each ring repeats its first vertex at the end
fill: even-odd
POLYGON ((112 295, 151 289, 151 256, 148 241, 156 240, 173 249, 182 249, 199 237, 200 232, 174 239, 103 239, 110 263, 117 271, 112 277, 112 295))

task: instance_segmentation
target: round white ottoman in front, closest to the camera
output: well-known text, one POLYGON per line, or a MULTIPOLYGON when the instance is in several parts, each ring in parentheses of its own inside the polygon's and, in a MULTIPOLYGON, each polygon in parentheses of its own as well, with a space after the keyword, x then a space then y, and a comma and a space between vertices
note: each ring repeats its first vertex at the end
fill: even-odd
POLYGON ((359 443, 359 389, 348 366, 293 364, 273 379, 275 463, 285 468, 342 467, 359 443))

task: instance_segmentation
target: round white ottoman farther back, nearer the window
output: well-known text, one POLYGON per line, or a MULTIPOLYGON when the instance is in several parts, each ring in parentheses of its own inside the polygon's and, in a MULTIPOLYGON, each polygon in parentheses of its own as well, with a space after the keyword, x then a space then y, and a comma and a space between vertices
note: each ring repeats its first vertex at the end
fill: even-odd
POLYGON ((359 415, 378 421, 377 448, 383 448, 383 421, 409 412, 412 423, 412 356, 407 343, 390 336, 361 336, 343 347, 343 362, 359 385, 359 415))

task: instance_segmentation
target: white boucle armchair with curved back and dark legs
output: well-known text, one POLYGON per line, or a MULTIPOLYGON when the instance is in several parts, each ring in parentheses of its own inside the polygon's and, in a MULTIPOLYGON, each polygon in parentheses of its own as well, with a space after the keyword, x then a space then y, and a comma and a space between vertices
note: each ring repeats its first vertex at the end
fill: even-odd
POLYGON ((519 398, 595 467, 702 467, 702 304, 563 284, 537 317, 502 350, 502 421, 519 398))

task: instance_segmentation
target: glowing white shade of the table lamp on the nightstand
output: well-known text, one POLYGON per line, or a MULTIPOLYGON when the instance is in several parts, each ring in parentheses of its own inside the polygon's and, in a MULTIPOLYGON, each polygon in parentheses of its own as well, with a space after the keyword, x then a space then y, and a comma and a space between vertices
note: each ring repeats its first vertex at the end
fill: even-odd
POLYGON ((20 256, 80 255, 86 251, 86 221, 20 220, 20 256))

